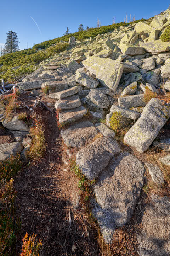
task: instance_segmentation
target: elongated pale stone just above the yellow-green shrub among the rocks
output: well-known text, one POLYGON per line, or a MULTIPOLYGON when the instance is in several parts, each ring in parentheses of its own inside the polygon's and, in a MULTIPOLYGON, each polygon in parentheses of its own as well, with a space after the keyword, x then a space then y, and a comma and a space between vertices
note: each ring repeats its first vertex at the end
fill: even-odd
POLYGON ((126 109, 120 106, 112 106, 111 107, 111 113, 114 112, 120 112, 121 116, 126 117, 126 118, 130 118, 132 120, 136 120, 137 118, 139 118, 141 115, 140 113, 134 111, 134 110, 130 110, 130 109, 126 109))

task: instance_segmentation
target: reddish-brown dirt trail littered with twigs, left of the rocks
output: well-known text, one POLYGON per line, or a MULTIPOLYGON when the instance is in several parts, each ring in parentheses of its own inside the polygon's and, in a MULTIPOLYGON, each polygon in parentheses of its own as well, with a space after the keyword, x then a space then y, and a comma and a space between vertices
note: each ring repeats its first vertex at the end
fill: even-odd
POLYGON ((55 112, 43 110, 42 121, 47 142, 44 158, 31 162, 15 179, 17 215, 21 217, 18 252, 28 232, 42 239, 43 256, 102 255, 97 229, 90 226, 84 202, 80 199, 78 209, 73 210, 73 196, 79 193, 78 178, 70 170, 63 171, 62 140, 55 112))

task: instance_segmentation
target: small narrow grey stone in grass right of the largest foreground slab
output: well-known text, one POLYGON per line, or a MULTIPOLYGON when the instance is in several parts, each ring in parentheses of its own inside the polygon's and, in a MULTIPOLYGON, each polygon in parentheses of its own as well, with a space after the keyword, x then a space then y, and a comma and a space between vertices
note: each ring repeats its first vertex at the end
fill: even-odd
POLYGON ((153 182, 155 182, 157 185, 163 185, 164 183, 164 174, 163 172, 158 168, 158 166, 154 166, 148 162, 145 162, 146 167, 148 168, 149 174, 151 175, 151 178, 153 182))

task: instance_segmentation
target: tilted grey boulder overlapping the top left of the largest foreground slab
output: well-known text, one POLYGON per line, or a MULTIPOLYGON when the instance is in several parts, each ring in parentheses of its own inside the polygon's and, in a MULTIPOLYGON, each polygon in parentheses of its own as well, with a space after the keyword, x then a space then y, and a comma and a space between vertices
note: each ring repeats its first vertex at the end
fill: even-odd
POLYGON ((77 152, 76 164, 87 178, 93 180, 108 165, 112 156, 118 153, 120 146, 116 140, 101 137, 77 152))

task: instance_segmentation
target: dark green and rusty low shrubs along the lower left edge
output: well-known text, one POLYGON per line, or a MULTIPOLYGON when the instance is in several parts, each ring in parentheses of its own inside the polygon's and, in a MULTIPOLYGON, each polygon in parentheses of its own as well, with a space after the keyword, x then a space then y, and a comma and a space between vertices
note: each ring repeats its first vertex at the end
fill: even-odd
POLYGON ((0 162, 0 253, 2 256, 16 255, 16 235, 20 222, 16 218, 13 177, 21 169, 19 156, 0 162))

